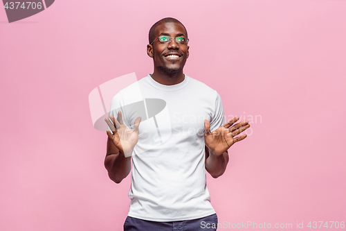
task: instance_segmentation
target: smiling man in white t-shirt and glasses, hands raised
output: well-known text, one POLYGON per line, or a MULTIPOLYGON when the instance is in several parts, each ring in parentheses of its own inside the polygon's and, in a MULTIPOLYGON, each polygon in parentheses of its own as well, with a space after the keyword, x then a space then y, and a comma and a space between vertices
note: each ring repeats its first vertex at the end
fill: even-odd
POLYGON ((147 55, 154 60, 153 74, 116 94, 109 113, 113 123, 105 119, 109 178, 120 183, 131 171, 132 158, 124 230, 216 230, 206 171, 213 178, 224 173, 228 148, 246 137, 235 136, 250 125, 235 124, 237 117, 225 123, 219 94, 183 74, 189 46, 181 22, 156 22, 147 55), (134 104, 141 98, 164 101, 163 116, 141 121, 143 112, 134 104))

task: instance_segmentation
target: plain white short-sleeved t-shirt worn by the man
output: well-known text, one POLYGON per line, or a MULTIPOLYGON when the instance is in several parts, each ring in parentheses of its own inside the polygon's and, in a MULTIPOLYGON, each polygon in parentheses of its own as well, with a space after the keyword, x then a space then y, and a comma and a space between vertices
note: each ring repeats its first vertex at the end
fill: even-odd
POLYGON ((122 111, 133 128, 140 116, 132 153, 128 216, 147 221, 182 221, 215 214, 206 186, 204 119, 215 130, 225 123, 219 94, 185 75, 161 85, 150 75, 122 89, 109 114, 122 111))

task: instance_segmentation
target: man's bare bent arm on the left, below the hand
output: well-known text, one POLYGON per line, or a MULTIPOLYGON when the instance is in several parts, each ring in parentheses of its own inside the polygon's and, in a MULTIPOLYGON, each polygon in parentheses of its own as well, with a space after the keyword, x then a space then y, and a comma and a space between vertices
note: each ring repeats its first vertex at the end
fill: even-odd
POLYGON ((107 153, 104 158, 104 166, 108 171, 109 178, 117 184, 126 178, 131 171, 131 156, 125 157, 124 153, 120 153, 109 137, 107 139, 107 153))

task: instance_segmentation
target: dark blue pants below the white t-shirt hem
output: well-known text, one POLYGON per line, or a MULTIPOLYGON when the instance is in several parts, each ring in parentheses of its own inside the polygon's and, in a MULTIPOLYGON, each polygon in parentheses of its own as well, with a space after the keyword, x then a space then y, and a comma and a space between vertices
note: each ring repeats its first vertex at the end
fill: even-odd
POLYGON ((185 221, 145 221, 127 216, 124 231, 216 231, 217 214, 185 221))

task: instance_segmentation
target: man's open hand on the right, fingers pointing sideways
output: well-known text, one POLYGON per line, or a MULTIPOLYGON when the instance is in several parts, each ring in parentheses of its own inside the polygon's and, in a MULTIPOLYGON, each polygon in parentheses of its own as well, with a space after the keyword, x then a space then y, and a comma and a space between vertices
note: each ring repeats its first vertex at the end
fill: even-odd
POLYGON ((213 132, 210 132, 209 121, 206 119, 204 120, 204 127, 206 128, 206 132, 204 132, 204 142, 212 153, 215 155, 222 155, 230 146, 235 144, 235 142, 239 142, 246 138, 246 134, 235 137, 241 132, 244 132, 244 130, 250 128, 250 124, 248 124, 247 120, 233 125, 233 123, 238 120, 239 118, 235 117, 213 132))

